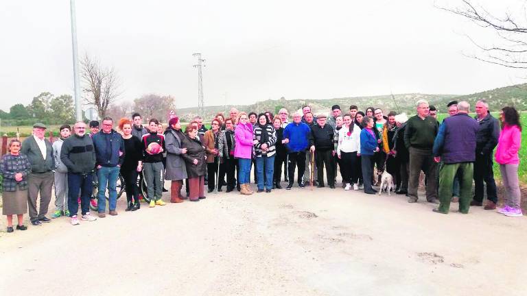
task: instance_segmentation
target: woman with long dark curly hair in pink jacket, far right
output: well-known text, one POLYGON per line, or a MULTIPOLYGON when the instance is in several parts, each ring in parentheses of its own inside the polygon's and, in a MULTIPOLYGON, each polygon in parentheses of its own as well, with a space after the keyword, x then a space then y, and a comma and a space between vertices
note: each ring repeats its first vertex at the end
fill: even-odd
POLYGON ((502 132, 496 149, 496 162, 500 164, 500 172, 505 186, 505 206, 497 211, 509 217, 521 217, 522 194, 519 191, 518 166, 519 147, 522 145, 522 124, 519 114, 513 107, 505 107, 500 112, 502 132))

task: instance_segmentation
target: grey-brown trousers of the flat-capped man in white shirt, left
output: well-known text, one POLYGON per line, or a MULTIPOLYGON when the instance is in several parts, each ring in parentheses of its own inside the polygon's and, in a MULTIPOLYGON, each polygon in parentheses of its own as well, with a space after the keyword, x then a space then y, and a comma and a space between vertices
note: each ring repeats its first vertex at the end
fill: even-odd
POLYGON ((42 219, 47 214, 51 201, 51 188, 55 175, 52 171, 45 173, 30 173, 27 177, 27 205, 31 221, 42 219), (36 210, 36 199, 40 193, 40 209, 36 210))

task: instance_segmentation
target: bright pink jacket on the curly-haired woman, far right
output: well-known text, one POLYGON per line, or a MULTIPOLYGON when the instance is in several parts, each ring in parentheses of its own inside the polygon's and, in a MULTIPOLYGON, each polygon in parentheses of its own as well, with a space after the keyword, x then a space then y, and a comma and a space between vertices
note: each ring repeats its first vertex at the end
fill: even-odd
POLYGON ((516 125, 504 125, 497 140, 496 162, 499 164, 519 164, 518 151, 522 146, 522 132, 516 125))

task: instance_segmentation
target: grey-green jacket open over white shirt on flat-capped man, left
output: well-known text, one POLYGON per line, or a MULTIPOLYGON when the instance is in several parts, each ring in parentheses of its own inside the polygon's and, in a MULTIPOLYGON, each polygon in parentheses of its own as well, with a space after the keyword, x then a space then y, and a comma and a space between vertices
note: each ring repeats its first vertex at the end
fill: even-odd
POLYGON ((46 143, 46 159, 42 157, 42 153, 36 144, 34 136, 30 136, 22 143, 21 153, 27 156, 30 160, 31 172, 32 173, 45 173, 48 171, 54 171, 55 169, 55 158, 53 156, 53 147, 47 138, 44 138, 46 143))

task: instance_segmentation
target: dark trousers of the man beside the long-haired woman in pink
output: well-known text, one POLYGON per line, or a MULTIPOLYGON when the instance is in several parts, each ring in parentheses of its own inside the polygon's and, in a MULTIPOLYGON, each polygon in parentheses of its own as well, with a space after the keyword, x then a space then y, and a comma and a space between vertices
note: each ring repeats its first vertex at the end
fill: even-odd
POLYGON ((476 153, 476 162, 474 162, 474 200, 483 201, 483 182, 487 184, 487 199, 497 203, 496 182, 492 171, 492 154, 476 153))

